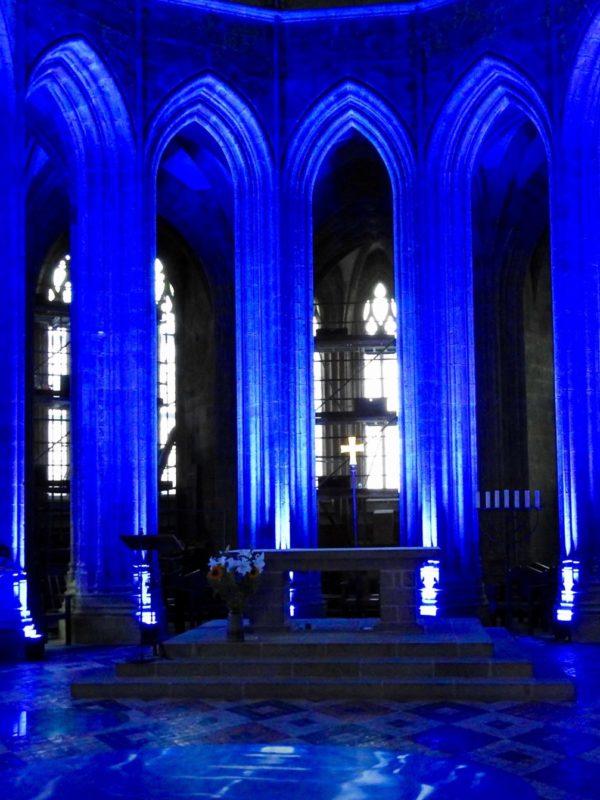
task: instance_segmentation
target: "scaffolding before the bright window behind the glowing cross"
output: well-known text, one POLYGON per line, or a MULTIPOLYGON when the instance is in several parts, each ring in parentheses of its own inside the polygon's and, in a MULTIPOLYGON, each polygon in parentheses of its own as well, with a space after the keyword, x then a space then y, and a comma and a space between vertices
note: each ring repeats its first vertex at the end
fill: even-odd
POLYGON ((350 545, 351 483, 348 437, 364 444, 358 456, 359 540, 397 544, 399 437, 396 337, 365 331, 364 315, 348 306, 320 306, 314 325, 315 457, 321 546, 350 545), (352 310, 351 310, 352 311, 352 310), (354 318, 343 326, 328 319, 354 318))

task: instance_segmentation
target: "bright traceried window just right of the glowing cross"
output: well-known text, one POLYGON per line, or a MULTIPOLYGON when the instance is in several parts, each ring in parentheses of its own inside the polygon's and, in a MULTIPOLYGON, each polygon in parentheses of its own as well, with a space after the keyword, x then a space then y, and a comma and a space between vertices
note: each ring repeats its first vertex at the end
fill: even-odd
MULTIPOLYGON (((364 355, 364 395, 379 403, 388 414, 398 413, 398 361, 396 359, 396 302, 388 296, 385 284, 379 282, 363 307, 364 330, 367 336, 381 341, 364 355), (394 337, 393 345, 385 345, 394 337)), ((400 488, 400 451, 398 427, 394 424, 365 425, 365 486, 367 489, 400 488)))

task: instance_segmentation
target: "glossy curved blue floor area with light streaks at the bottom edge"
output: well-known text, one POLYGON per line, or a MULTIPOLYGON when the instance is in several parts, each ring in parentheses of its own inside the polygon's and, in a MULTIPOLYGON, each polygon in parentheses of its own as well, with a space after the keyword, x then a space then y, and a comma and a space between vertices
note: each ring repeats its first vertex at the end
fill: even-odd
POLYGON ((11 800, 533 800, 521 778, 456 759, 351 747, 190 745, 9 770, 11 800))

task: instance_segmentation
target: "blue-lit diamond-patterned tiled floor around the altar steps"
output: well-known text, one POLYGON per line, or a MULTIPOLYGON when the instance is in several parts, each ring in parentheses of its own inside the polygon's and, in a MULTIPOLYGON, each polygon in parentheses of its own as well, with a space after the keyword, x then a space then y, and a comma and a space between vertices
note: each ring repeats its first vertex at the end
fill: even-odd
MULTIPOLYGON (((495 790, 490 791, 485 781, 492 778, 499 787, 498 797, 510 794, 513 800, 524 800, 534 796, 528 793, 533 789, 540 798, 596 800, 600 796, 600 646, 539 639, 527 643, 538 658, 560 664, 575 678, 578 699, 574 703, 73 701, 72 680, 137 653, 125 648, 50 646, 44 661, 0 666, 0 769, 4 787, 9 789, 3 797, 52 797, 47 787, 32 794, 31 782, 41 791, 48 776, 56 780, 64 772, 85 766, 88 788, 79 795, 84 800, 121 796, 131 800, 137 797, 127 783, 131 776, 125 780, 121 775, 120 782, 115 778, 123 758, 135 754, 138 769, 139 758, 146 758, 147 774, 150 755, 156 767, 160 752, 161 763, 173 778, 181 780, 182 765, 187 765, 186 791, 202 776, 206 783, 202 791, 185 794, 181 786, 166 788, 152 781, 151 787, 144 785, 146 800, 250 794, 258 800, 261 791, 256 776, 279 781, 269 770, 287 774, 290 764, 304 785, 303 796, 312 794, 312 800, 400 796, 434 800, 459 797, 461 792, 463 798, 475 798, 479 796, 473 789, 476 785, 482 792, 487 787, 481 796, 491 799, 496 797, 495 790), (248 762, 256 765, 257 758, 260 771, 252 772, 248 762), (195 777, 190 773, 192 763, 195 777), (457 773, 460 765, 463 771, 457 773), (423 782, 417 782, 420 789, 407 788, 407 776, 414 781, 420 772, 437 775, 429 794, 423 794, 423 782), (95 781, 89 777, 93 774, 106 778, 95 781), (457 774, 463 781, 472 780, 466 793, 457 774), (250 786, 251 776, 251 791, 241 792, 243 786, 250 786), (520 789, 506 783, 510 776, 523 779, 520 789)), ((138 780, 136 786, 141 785, 138 780)), ((288 800, 296 797, 291 787, 285 794, 288 800)), ((64 792, 62 796, 70 800, 64 792)))

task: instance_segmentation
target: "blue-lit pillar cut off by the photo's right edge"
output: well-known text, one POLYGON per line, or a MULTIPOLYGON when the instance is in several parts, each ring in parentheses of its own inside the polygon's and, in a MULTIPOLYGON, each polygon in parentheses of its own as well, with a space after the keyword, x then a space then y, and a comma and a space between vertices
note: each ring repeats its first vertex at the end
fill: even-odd
MULTIPOLYGON (((552 198, 561 562, 579 566, 573 638, 600 641, 600 18, 575 63, 552 198)), ((568 589, 564 583, 559 590, 568 589)), ((560 595, 559 595, 560 600, 560 595)), ((564 609, 563 609, 564 611, 564 609)))

